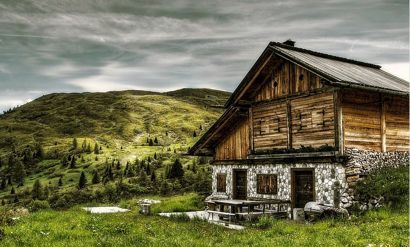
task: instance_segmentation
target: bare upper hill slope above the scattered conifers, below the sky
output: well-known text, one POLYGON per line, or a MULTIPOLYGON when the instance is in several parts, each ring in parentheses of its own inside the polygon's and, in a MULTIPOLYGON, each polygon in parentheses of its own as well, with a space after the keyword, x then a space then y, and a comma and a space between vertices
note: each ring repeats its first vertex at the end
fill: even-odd
POLYGON ((162 146, 186 142, 222 114, 208 106, 224 104, 229 95, 208 89, 45 95, 0 115, 0 156, 28 143, 49 146, 74 137, 119 145, 143 145, 151 136, 162 146))

